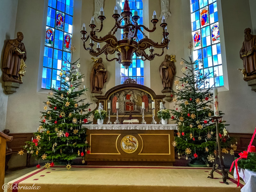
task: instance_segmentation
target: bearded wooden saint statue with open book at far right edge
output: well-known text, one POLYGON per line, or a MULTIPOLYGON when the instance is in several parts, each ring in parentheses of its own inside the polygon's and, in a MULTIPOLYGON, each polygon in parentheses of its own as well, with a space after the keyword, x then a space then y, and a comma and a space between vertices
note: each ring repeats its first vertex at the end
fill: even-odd
POLYGON ((247 81, 256 78, 256 35, 252 35, 251 32, 250 28, 244 29, 244 42, 239 52, 247 77, 255 76, 247 78, 247 81))

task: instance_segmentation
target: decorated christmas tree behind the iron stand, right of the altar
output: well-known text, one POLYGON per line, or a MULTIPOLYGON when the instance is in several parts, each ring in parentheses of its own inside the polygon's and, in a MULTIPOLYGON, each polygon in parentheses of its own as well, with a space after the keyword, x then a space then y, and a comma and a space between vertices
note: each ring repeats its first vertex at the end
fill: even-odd
MULTIPOLYGON (((213 75, 200 70, 202 60, 192 62, 191 54, 189 61, 182 60, 180 65, 183 77, 174 82, 177 92, 174 93, 174 109, 171 110, 171 119, 178 124, 178 132, 172 145, 176 147, 178 158, 185 155, 187 160, 189 157, 193 159, 193 163, 209 166, 217 152, 216 125, 212 120, 212 87, 209 86, 209 78, 213 75)), ((231 139, 224 123, 219 121, 222 153, 234 155, 236 145, 229 147, 231 139)))

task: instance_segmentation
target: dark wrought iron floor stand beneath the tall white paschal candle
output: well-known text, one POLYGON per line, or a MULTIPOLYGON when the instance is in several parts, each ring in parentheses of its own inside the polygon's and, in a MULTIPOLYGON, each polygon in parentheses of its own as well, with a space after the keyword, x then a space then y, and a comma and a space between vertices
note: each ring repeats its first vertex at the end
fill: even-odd
MULTIPOLYGON (((225 165, 224 165, 224 162, 223 162, 221 146, 220 146, 220 135, 219 135, 219 119, 222 118, 222 116, 213 116, 212 118, 216 122, 216 142, 217 142, 217 145, 218 145, 218 151, 219 151, 219 156, 220 156, 220 167, 221 167, 222 180, 223 180, 223 183, 226 183, 228 185, 228 182, 227 182, 228 170, 225 169, 225 165)), ((216 169, 216 167, 215 167, 216 166, 216 159, 217 159, 217 153, 216 153, 216 156, 215 156, 215 162, 212 165, 212 171, 210 173, 211 176, 208 176, 208 178, 213 179, 213 172, 216 169)))

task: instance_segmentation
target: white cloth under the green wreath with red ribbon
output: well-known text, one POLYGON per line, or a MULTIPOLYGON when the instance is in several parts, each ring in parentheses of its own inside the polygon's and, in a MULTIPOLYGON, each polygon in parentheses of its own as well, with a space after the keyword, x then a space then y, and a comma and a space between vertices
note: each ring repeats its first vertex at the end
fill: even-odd
MULTIPOLYGON (((256 192, 256 172, 247 169, 241 169, 239 176, 244 180, 245 185, 241 192, 256 192)), ((234 178, 237 179, 236 169, 234 170, 234 178)))

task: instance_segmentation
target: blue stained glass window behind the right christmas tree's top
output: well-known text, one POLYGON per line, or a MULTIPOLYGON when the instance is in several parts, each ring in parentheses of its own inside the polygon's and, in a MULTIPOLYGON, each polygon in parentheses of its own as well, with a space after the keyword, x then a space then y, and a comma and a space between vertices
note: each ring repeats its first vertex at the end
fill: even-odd
POLYGON ((193 58, 198 71, 209 75, 201 89, 224 86, 216 0, 190 0, 193 58))

